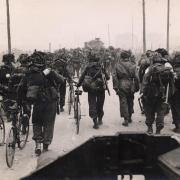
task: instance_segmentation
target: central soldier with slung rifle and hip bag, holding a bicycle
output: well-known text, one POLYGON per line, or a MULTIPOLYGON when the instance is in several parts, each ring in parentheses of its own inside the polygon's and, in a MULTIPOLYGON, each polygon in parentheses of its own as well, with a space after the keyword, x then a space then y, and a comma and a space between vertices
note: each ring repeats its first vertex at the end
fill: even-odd
MULTIPOLYGON (((88 103, 89 103, 89 116, 93 119, 94 122, 94 129, 98 129, 99 125, 103 123, 102 118, 104 115, 103 106, 105 100, 105 89, 102 80, 102 73, 105 74, 106 80, 109 80, 109 76, 105 69, 102 69, 101 64, 99 63, 99 57, 95 54, 89 54, 88 56, 89 64, 85 68, 84 72, 82 73, 81 77, 79 78, 79 82, 77 86, 83 85, 83 81, 87 77, 90 77, 94 82, 94 86, 87 88, 83 85, 83 89, 88 92, 88 103)), ((92 83, 93 83, 92 82, 92 83)), ((90 84, 87 84, 90 86, 90 84)))

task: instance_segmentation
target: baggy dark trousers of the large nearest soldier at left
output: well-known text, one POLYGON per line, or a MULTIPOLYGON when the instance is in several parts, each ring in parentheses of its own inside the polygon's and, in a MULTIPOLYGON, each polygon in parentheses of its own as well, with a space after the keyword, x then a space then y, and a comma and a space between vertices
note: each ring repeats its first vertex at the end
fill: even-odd
POLYGON ((51 144, 56 117, 56 101, 38 102, 33 106, 33 140, 38 143, 51 144))

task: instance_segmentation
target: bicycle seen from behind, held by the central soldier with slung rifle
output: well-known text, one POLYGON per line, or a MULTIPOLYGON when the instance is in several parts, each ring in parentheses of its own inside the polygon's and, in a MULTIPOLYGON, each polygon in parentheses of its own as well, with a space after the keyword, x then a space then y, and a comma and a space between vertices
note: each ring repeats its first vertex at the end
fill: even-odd
POLYGON ((81 119, 81 103, 79 96, 82 95, 82 90, 79 90, 79 87, 75 90, 75 97, 74 97, 74 119, 76 123, 76 134, 79 134, 79 126, 80 126, 80 119, 81 119))

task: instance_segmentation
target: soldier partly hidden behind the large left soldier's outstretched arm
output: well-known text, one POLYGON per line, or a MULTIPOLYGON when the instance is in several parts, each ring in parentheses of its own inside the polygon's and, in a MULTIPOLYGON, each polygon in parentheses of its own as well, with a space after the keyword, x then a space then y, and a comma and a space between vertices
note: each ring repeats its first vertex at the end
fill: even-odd
MULTIPOLYGON (((67 69, 67 62, 64 56, 61 56, 55 60, 53 63, 53 68, 63 77, 65 77, 68 83, 72 82, 72 78, 70 75, 69 70, 67 69)), ((66 99, 66 81, 60 84, 59 86, 59 93, 60 93, 60 111, 64 111, 65 99, 66 99)))

